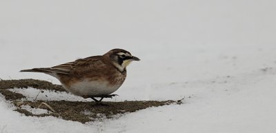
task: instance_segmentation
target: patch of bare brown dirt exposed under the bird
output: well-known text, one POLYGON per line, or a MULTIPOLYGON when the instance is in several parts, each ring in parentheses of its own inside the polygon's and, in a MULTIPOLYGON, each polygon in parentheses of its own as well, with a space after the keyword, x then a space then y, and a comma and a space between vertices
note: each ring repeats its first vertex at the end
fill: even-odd
POLYGON ((10 88, 37 88, 41 90, 55 90, 65 92, 61 85, 54 85, 48 81, 40 81, 34 79, 20 80, 2 80, 0 81, 0 93, 5 96, 5 99, 12 101, 17 107, 17 112, 26 116, 55 116, 65 120, 79 121, 86 123, 99 119, 113 119, 118 114, 127 112, 136 112, 137 110, 146 109, 149 107, 157 107, 170 104, 181 104, 179 101, 122 101, 122 102, 102 102, 103 105, 95 102, 81 101, 26 101, 22 94, 11 92, 10 88), (41 104, 46 103, 46 104, 41 104), (28 110, 21 108, 22 105, 29 105, 31 108, 41 108, 48 110, 47 114, 32 114, 28 110))

